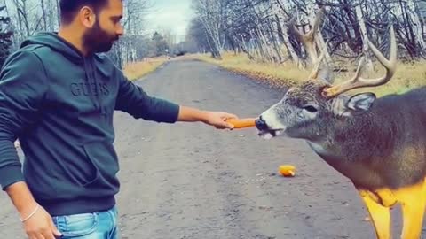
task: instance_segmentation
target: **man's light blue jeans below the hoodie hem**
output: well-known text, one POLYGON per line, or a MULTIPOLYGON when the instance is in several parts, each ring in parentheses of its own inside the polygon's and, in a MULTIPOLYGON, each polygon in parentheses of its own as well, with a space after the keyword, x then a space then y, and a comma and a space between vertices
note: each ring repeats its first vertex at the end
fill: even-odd
POLYGON ((92 212, 52 217, 62 234, 61 239, 118 239, 116 207, 105 212, 92 212))

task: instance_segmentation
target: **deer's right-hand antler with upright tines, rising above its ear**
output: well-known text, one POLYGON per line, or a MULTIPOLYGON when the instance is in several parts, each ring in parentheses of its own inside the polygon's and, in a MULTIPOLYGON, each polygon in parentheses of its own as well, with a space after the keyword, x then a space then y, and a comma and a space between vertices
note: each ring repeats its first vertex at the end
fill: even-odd
POLYGON ((360 77, 362 68, 365 65, 365 58, 361 58, 358 69, 357 69, 357 73, 355 73, 355 76, 349 81, 344 81, 341 84, 335 85, 331 88, 324 89, 325 96, 334 97, 351 89, 380 86, 390 81, 393 74, 396 72, 397 57, 398 57, 397 41, 395 39, 395 32, 393 30, 393 26, 390 27, 390 59, 389 60, 383 57, 383 54, 380 52, 380 50, 377 50, 377 48, 375 48, 375 45, 373 43, 368 41, 368 45, 370 46, 370 49, 375 54, 375 57, 386 68, 385 75, 377 79, 364 79, 360 77))

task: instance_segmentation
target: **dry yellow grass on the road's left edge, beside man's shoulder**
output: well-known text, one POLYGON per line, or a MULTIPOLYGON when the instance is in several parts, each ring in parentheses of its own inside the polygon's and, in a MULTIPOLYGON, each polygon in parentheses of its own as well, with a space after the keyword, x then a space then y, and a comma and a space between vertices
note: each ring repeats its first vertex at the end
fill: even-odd
POLYGON ((162 66, 167 60, 166 57, 146 58, 143 61, 124 66, 123 73, 130 81, 138 80, 146 74, 154 72, 155 69, 162 66))

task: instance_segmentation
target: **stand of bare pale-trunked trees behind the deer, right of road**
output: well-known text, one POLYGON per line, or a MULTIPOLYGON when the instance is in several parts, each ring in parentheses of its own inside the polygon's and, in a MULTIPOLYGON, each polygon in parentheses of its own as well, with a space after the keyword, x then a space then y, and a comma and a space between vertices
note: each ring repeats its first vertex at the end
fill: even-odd
POLYGON ((386 51, 390 42, 384 29, 390 25, 395 28, 402 58, 426 55, 423 0, 193 0, 193 3, 195 19, 202 23, 204 31, 204 35, 195 38, 205 39, 213 56, 218 56, 221 50, 233 50, 245 52, 253 60, 281 63, 290 58, 299 66, 311 65, 318 56, 298 41, 288 22, 293 18, 300 34, 306 35, 321 8, 323 22, 312 37, 315 48, 325 58, 367 55, 367 41, 386 51))

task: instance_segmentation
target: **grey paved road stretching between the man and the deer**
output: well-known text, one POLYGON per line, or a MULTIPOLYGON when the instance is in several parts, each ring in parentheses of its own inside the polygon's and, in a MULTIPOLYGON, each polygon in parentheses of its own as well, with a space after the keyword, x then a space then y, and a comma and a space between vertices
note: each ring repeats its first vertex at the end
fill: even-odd
MULTIPOLYGON (((283 94, 188 60, 171 61, 137 83, 154 96, 241 117, 256 116, 283 94)), ((254 128, 156 124, 124 113, 114 125, 123 239, 375 237, 351 183, 302 141, 265 141, 254 128), (296 177, 277 175, 280 164, 295 165, 296 177)), ((0 238, 24 238, 5 194, 0 205, 0 238)), ((394 226, 399 230, 399 220, 394 226)))

